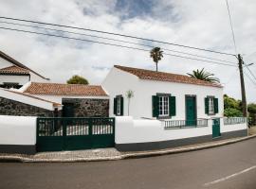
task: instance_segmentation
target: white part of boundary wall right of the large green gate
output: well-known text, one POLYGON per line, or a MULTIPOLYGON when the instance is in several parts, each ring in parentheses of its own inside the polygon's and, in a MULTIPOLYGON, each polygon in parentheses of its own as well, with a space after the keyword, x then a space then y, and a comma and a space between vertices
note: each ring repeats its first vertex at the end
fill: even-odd
MULTIPOLYGON (((247 123, 237 125, 223 125, 221 119, 221 133, 247 129, 247 123)), ((186 129, 164 129, 163 122, 158 120, 134 120, 131 116, 116 117, 116 144, 134 144, 186 139, 212 134, 212 120, 208 127, 186 129)))

